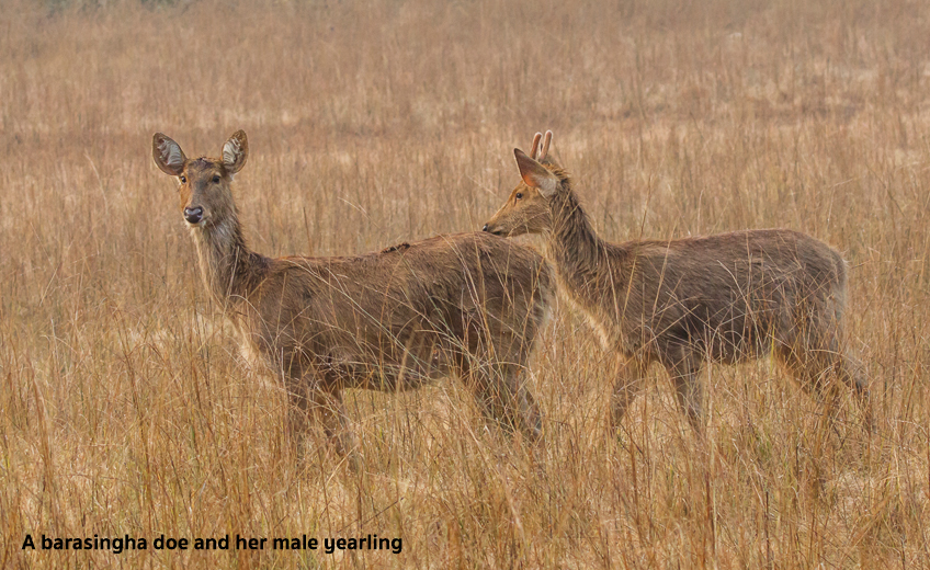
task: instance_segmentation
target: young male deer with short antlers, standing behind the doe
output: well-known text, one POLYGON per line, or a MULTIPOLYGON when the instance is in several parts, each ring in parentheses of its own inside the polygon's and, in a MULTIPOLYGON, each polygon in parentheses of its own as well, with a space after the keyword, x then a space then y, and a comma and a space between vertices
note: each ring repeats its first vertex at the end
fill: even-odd
POLYGON ((559 288, 619 353, 614 429, 654 362, 668 371, 700 432, 702 362, 769 352, 807 391, 835 398, 831 375, 852 386, 871 423, 865 381, 841 349, 839 253, 786 229, 609 243, 594 233, 568 172, 548 158, 552 132, 541 140, 536 134, 531 156, 514 149, 523 180, 484 230, 545 237, 559 288))

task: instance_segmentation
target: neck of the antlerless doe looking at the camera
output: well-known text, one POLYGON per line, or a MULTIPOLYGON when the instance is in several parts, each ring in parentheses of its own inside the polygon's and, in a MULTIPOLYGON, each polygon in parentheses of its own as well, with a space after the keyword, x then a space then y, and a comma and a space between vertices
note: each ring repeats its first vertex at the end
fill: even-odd
POLYGON ((249 250, 238 217, 234 214, 213 226, 192 228, 191 233, 201 276, 214 300, 224 308, 245 300, 261 283, 268 260, 249 250))

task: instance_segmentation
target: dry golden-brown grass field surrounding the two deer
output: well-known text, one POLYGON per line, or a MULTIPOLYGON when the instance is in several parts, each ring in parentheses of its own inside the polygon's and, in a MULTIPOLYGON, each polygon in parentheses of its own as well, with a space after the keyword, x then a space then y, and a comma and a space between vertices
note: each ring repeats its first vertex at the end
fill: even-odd
POLYGON ((0 14, 0 567, 930 567, 926 2, 99 4, 0 14), (350 391, 364 471, 320 430, 300 464, 150 155, 156 130, 218 156, 239 128, 270 255, 476 230, 546 128, 608 239, 810 233, 850 262, 876 431, 851 400, 825 428, 760 361, 704 369, 703 440, 658 367, 608 436, 609 355, 563 303, 538 460, 451 380, 350 391), (402 550, 151 544, 367 534, 402 550))

